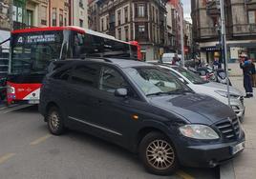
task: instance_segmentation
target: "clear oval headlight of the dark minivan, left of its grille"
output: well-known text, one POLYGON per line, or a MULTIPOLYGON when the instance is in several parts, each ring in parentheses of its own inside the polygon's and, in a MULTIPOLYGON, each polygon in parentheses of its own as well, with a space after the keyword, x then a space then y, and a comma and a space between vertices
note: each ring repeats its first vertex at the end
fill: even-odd
POLYGON ((180 127, 181 134, 193 139, 219 139, 220 136, 208 126, 205 125, 185 125, 180 127))

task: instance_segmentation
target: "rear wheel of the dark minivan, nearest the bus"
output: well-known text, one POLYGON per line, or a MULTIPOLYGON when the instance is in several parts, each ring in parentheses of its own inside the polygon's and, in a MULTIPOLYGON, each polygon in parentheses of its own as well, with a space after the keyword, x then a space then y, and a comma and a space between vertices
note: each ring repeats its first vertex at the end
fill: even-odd
POLYGON ((47 113, 48 129, 53 135, 61 135, 65 131, 63 117, 58 108, 52 107, 47 113))

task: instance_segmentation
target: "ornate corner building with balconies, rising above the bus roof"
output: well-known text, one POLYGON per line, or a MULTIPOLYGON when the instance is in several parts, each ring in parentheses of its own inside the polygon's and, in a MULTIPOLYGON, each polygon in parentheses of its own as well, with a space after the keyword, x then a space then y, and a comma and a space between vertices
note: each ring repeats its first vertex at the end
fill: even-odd
POLYGON ((138 41, 144 60, 158 60, 167 47, 164 0, 98 0, 89 3, 90 29, 138 41))

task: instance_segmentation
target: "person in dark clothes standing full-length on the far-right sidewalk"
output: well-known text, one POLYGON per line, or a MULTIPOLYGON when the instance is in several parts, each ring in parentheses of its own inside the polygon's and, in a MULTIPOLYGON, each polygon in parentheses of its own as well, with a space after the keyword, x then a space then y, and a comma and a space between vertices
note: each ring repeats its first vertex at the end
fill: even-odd
POLYGON ((252 84, 251 84, 252 64, 248 60, 245 54, 241 55, 240 68, 243 70, 243 73, 244 73, 244 87, 246 92, 245 98, 253 97, 252 84))

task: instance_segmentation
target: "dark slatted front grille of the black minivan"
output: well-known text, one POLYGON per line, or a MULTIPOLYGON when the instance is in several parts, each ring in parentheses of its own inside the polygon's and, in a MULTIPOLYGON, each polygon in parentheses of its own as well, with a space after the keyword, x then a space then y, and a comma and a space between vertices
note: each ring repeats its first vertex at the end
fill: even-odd
POLYGON ((224 119, 215 126, 222 132, 224 139, 234 140, 240 135, 240 124, 237 117, 224 119))

